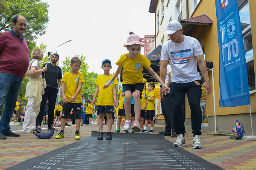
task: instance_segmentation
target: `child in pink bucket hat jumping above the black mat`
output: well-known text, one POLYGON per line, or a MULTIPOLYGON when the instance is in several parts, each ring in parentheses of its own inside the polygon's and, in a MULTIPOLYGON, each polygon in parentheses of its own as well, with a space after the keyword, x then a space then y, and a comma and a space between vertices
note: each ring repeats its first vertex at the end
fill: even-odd
POLYGON ((141 47, 144 47, 143 38, 140 38, 138 35, 132 34, 127 38, 127 42, 124 44, 124 47, 129 51, 128 54, 124 54, 120 56, 120 59, 116 62, 118 68, 113 75, 113 77, 106 83, 103 88, 106 89, 110 82, 112 82, 118 74, 121 73, 121 69, 123 68, 123 89, 125 95, 125 115, 126 121, 122 130, 130 131, 134 130, 134 132, 141 131, 141 125, 139 123, 140 119, 140 111, 141 111, 141 102, 140 96, 144 87, 144 81, 142 77, 143 67, 150 72, 150 74, 161 83, 165 93, 167 94, 169 91, 169 87, 165 85, 165 83, 160 79, 160 77, 153 71, 150 67, 151 63, 142 54, 139 54, 141 51, 141 47), (130 111, 131 111, 131 100, 132 94, 134 99, 134 111, 135 111, 135 121, 132 125, 132 121, 130 120, 130 111))

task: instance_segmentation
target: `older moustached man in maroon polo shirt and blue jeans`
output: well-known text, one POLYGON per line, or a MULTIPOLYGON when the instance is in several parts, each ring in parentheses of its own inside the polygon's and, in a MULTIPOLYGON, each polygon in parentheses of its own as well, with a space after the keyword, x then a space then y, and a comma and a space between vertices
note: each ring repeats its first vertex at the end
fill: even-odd
POLYGON ((0 120, 0 139, 20 136, 11 131, 9 123, 29 66, 29 49, 22 36, 26 30, 26 19, 21 15, 15 16, 12 26, 13 30, 0 34, 0 107, 5 103, 0 120))

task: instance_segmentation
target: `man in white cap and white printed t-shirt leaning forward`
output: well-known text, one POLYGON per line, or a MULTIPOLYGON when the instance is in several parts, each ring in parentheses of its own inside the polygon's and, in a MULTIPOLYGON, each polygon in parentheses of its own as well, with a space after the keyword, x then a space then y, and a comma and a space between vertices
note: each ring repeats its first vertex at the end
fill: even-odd
POLYGON ((182 31, 179 21, 168 23, 165 34, 168 34, 170 40, 162 46, 160 75, 164 81, 168 61, 170 61, 172 75, 169 93, 173 103, 174 127, 177 133, 174 146, 182 147, 186 145, 182 104, 185 94, 187 94, 191 109, 192 133, 194 134, 193 148, 200 149, 202 148, 200 141, 200 135, 202 134, 200 131, 202 124, 200 97, 203 88, 206 88, 206 94, 208 95, 211 94, 212 90, 200 43, 193 37, 184 36, 182 31), (205 81, 203 85, 197 71, 197 62, 205 81))

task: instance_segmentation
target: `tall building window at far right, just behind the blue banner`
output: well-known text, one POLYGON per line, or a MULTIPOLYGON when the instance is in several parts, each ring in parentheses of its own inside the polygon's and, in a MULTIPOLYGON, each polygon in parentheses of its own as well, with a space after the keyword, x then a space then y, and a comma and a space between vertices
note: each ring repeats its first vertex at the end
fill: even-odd
POLYGON ((238 0, 239 16, 241 21, 242 34, 244 39, 244 51, 249 82, 249 91, 255 91, 255 74, 253 62, 253 43, 250 24, 250 11, 248 0, 238 0), (244 1, 244 2, 241 2, 244 1))

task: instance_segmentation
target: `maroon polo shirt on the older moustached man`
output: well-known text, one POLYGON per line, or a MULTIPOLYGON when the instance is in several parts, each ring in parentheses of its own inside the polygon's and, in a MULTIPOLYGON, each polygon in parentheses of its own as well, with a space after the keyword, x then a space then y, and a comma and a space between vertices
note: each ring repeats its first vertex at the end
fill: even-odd
POLYGON ((29 48, 25 38, 13 30, 0 34, 0 73, 24 78, 29 67, 29 48))

